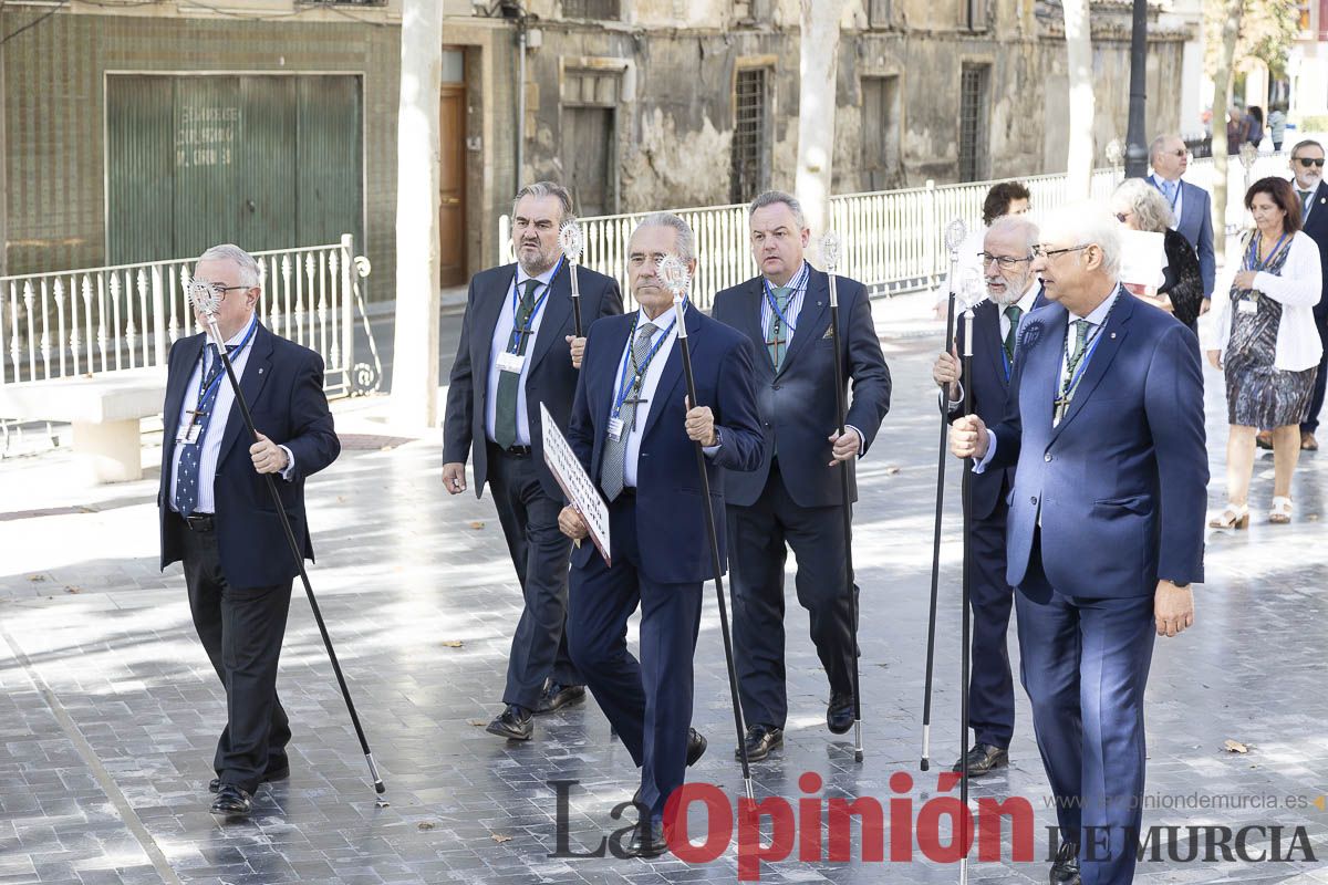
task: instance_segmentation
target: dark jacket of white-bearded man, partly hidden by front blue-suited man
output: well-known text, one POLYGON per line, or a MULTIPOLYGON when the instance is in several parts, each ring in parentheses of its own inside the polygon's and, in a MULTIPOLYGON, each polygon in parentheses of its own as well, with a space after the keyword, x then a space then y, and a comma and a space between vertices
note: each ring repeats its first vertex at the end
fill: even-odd
MULTIPOLYGON (((1046 304, 1041 291, 1033 300, 1033 310, 1046 304)), ((964 399, 972 401, 973 413, 988 427, 993 427, 1005 417, 1005 398, 1009 393, 1009 377, 1013 366, 1005 364, 1005 340, 1000 333, 1000 310, 993 301, 981 301, 973 308, 973 377, 964 378, 964 399)), ((1032 316, 1032 310, 1029 310, 1032 316)), ((955 348, 964 353, 964 321, 960 312, 955 336, 955 348)), ((954 410, 963 414, 964 402, 954 410)), ((1015 483, 1015 468, 987 470, 971 479, 973 519, 987 519, 996 510, 996 503, 1009 494, 1015 483)))

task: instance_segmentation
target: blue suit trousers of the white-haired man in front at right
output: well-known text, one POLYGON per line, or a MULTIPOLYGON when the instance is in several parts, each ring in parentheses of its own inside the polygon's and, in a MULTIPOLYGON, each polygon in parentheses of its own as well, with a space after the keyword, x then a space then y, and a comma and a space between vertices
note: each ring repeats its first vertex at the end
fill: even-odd
POLYGON ((1153 597, 1064 596, 1046 581, 1038 541, 1015 597, 1037 748, 1061 840, 1080 844, 1084 885, 1127 885, 1143 817, 1153 597))

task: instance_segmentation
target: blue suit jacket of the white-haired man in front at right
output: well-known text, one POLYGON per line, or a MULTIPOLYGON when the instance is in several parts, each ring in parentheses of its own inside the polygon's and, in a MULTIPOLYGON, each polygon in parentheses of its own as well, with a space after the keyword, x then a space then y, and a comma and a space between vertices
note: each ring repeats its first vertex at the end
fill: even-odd
MULTIPOLYGON (((1065 418, 1052 427, 1068 313, 1028 314, 988 467, 1017 463, 1007 523, 1011 586, 1041 519, 1042 569, 1068 596, 1150 596, 1203 580, 1208 455, 1194 333, 1118 289, 1065 418)), ((1042 588, 1045 589, 1045 588, 1042 588)))

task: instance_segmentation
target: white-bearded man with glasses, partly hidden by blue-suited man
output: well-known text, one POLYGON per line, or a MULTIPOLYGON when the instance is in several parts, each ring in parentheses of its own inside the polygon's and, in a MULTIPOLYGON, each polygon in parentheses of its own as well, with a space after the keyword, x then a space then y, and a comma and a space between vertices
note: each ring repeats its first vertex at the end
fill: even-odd
MULTIPOLYGON (((973 375, 959 383, 960 366, 955 354, 964 352, 965 326, 961 322, 955 354, 940 354, 932 368, 936 383, 950 387, 951 413, 961 411, 967 399, 988 425, 997 425, 1004 417, 1011 374, 1019 360, 1020 320, 1046 304, 1032 269, 1035 245, 1037 226, 1024 216, 1007 215, 988 228, 981 255, 987 299, 973 308, 973 375)), ((1015 681, 1005 644, 1015 604, 1015 590, 1005 580, 1005 516, 1009 513, 1005 499, 1013 484, 1013 467, 972 478, 971 559, 967 564, 973 612, 973 667, 968 683, 968 724, 973 730, 968 774, 972 778, 1009 764, 1009 740, 1015 734, 1015 681)), ((955 771, 961 770, 963 759, 955 763, 955 771)))

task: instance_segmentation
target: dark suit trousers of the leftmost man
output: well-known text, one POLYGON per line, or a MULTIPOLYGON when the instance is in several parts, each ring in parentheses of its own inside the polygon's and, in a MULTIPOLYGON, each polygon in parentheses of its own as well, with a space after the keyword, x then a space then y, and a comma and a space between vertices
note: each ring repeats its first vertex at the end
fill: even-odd
POLYGON ((185 551, 185 586, 194 629, 226 686, 226 728, 212 768, 223 783, 250 793, 266 771, 286 768, 291 723, 276 695, 276 670, 291 608, 291 581, 231 586, 222 573, 214 532, 195 532, 177 516, 185 551))

